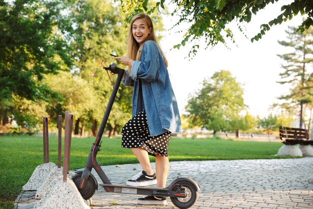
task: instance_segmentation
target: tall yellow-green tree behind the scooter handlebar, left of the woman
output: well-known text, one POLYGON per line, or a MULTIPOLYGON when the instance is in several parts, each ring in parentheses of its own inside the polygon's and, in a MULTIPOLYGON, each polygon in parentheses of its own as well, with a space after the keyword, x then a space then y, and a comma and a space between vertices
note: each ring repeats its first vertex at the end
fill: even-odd
MULTIPOLYGON (((88 81, 100 100, 88 112, 88 120, 92 123, 92 133, 95 135, 96 126, 101 122, 112 90, 112 85, 102 67, 108 66, 112 61, 116 62, 110 53, 126 55, 128 24, 124 24, 126 17, 121 12, 120 6, 106 1, 79 1, 72 14, 76 23, 77 37, 74 42, 75 74, 88 81)), ((160 20, 160 17, 155 15, 151 18, 155 22, 160 20)), ((163 30, 163 25, 157 24, 155 30, 163 30)), ((131 95, 132 88, 120 87, 106 124, 109 136, 121 129, 131 117, 131 95)), ((83 120, 75 124, 78 125, 80 121, 83 120)))

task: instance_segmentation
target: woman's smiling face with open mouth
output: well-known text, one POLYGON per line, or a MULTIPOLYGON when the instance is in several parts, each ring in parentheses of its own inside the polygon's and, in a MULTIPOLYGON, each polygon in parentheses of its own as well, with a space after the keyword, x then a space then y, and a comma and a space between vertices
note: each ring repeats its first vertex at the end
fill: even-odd
POLYGON ((137 19, 132 24, 132 36, 141 45, 151 33, 151 28, 146 25, 143 19, 137 19))

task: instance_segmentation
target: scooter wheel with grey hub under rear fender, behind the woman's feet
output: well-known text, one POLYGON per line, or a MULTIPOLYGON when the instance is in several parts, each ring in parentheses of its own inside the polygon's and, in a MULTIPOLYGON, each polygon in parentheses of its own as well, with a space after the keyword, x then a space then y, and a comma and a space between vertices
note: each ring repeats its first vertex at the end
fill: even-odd
POLYGON ((191 207, 194 202, 197 200, 198 191, 194 184, 190 181, 178 181, 176 184, 179 184, 184 187, 185 197, 170 197, 171 202, 180 209, 186 209, 191 207))

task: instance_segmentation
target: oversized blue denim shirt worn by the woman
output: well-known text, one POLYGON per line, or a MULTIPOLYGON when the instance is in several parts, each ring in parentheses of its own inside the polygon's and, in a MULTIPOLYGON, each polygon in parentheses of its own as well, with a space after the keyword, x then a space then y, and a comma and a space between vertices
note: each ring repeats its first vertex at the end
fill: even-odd
POLYGON ((132 117, 145 109, 150 136, 166 131, 181 131, 176 98, 163 57, 155 42, 144 43, 140 60, 132 63, 130 75, 126 71, 122 83, 133 86, 132 117), (142 97, 139 96, 139 80, 142 97))

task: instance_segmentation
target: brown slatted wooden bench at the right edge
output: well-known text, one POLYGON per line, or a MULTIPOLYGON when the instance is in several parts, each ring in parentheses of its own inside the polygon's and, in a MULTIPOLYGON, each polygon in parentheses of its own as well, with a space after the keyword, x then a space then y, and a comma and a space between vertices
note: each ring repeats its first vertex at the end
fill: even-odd
POLYGON ((313 140, 309 140, 308 130, 303 128, 279 126, 279 138, 286 145, 313 145, 313 140))

